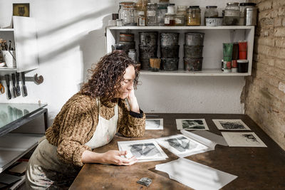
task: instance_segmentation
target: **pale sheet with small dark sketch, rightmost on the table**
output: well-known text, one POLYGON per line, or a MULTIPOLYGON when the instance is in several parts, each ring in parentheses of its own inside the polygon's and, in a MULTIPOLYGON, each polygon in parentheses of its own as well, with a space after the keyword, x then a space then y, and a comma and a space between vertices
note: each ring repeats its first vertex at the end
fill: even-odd
POLYGON ((267 147, 254 132, 222 132, 229 147, 267 147))

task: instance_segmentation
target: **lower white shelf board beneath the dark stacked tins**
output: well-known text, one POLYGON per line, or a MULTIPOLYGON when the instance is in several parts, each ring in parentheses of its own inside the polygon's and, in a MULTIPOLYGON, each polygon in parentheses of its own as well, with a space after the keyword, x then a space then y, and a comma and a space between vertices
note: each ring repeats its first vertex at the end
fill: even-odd
POLYGON ((201 71, 185 71, 183 69, 174 71, 140 70, 140 75, 170 75, 170 76, 248 76, 250 73, 223 73, 221 69, 203 69, 201 71))

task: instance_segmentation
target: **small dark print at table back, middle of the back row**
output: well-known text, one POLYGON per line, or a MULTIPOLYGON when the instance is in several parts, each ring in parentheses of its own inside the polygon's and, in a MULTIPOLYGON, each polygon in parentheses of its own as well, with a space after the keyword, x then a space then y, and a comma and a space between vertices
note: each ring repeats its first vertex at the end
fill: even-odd
POLYGON ((176 119, 177 130, 209 130, 204 119, 176 119))

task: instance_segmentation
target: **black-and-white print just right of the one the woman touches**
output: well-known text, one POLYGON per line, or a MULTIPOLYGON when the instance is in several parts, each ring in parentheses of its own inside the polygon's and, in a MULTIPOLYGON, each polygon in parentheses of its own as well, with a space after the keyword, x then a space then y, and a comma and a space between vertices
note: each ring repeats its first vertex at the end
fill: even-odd
POLYGON ((188 155, 196 154, 202 149, 207 149, 204 144, 190 139, 183 134, 176 134, 170 137, 162 137, 156 139, 158 144, 162 145, 170 152, 176 154, 179 157, 187 157, 188 155))

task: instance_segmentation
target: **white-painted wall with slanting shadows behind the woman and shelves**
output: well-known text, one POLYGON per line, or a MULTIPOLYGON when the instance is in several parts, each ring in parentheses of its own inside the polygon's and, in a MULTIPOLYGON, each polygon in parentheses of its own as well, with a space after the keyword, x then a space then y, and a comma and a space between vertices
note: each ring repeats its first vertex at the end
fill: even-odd
MULTIPOLYGON (((48 104, 50 125, 63 104, 86 80, 87 69, 105 54, 105 26, 118 11, 118 0, 0 0, 0 26, 11 23, 12 4, 29 3, 36 18, 39 68, 27 73, 43 75, 41 85, 26 83, 27 97, 0 102, 38 101, 48 104)), ((176 0, 176 5, 217 5, 227 1, 176 0)), ((239 1, 242 2, 242 1, 239 1)), ((204 9, 203 9, 204 11, 204 9)), ((203 12, 202 11, 202 12, 203 12)), ((1 73, 0 73, 1 74, 1 73)), ((145 112, 243 113, 240 94, 243 77, 185 77, 142 75, 136 95, 145 112)), ((39 119, 29 125, 42 125, 39 119)), ((36 129, 36 128, 34 128, 36 129)), ((34 130, 33 129, 33 130, 34 130)))

